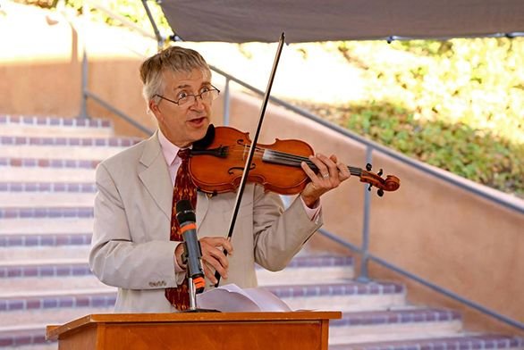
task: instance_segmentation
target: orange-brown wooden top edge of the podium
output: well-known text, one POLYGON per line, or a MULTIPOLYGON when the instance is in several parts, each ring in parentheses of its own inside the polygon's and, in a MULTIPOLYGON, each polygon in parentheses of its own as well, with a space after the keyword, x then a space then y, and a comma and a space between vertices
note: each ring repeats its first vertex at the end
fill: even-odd
POLYGON ((59 336, 90 324, 97 323, 165 323, 206 321, 318 321, 341 319, 340 311, 297 311, 297 312, 176 312, 176 313, 97 313, 63 325, 49 325, 47 339, 59 336))

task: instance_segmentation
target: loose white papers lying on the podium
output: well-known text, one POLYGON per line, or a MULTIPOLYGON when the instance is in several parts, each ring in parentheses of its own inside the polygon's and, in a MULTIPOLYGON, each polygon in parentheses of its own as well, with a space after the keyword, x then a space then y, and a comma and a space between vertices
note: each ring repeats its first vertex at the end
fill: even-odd
POLYGON ((290 307, 266 288, 228 284, 197 295, 197 306, 221 312, 289 312, 290 307))

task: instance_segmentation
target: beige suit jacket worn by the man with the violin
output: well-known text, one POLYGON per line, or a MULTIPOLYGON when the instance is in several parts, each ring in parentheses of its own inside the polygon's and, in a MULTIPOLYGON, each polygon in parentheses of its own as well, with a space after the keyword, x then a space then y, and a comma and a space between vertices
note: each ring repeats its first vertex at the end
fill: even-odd
MULTIPOLYGON (((101 162, 97 189, 89 266, 102 282, 118 287, 115 312, 175 312, 165 287, 175 287, 183 273, 174 270, 179 243, 169 239, 173 185, 157 133, 101 162)), ((199 237, 227 236, 235 198, 198 193, 199 237)), ((256 287, 255 262, 282 270, 320 226, 300 200, 284 212, 280 196, 248 184, 232 235, 229 277, 221 285, 256 287)))

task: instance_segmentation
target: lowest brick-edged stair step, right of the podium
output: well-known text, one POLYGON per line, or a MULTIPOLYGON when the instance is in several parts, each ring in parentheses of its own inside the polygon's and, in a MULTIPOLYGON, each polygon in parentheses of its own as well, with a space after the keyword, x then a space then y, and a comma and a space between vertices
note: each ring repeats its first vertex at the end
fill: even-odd
POLYGON ((504 335, 464 335, 410 341, 375 342, 329 346, 329 350, 463 350, 524 349, 524 338, 504 335))

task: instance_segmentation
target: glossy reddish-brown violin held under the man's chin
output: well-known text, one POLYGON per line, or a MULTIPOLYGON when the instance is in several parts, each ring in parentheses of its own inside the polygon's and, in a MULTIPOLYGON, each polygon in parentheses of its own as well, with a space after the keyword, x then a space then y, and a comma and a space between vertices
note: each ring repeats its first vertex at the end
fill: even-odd
MULTIPOLYGON (((191 150, 191 179, 203 192, 217 194, 235 191, 241 183, 250 146, 249 133, 209 125, 206 137, 195 143, 191 150)), ((314 154, 313 148, 297 139, 276 138, 272 145, 257 144, 247 181, 258 183, 280 195, 297 195, 309 181, 300 163, 306 162, 313 171, 318 171, 317 166, 308 159, 311 154, 314 154)), ((368 183, 368 190, 378 188, 378 196, 383 196, 384 191, 397 190, 401 184, 400 179, 393 175, 382 178, 382 170, 371 172, 369 163, 366 170, 352 166, 348 166, 348 170, 351 175, 358 176, 360 182, 368 183)))

